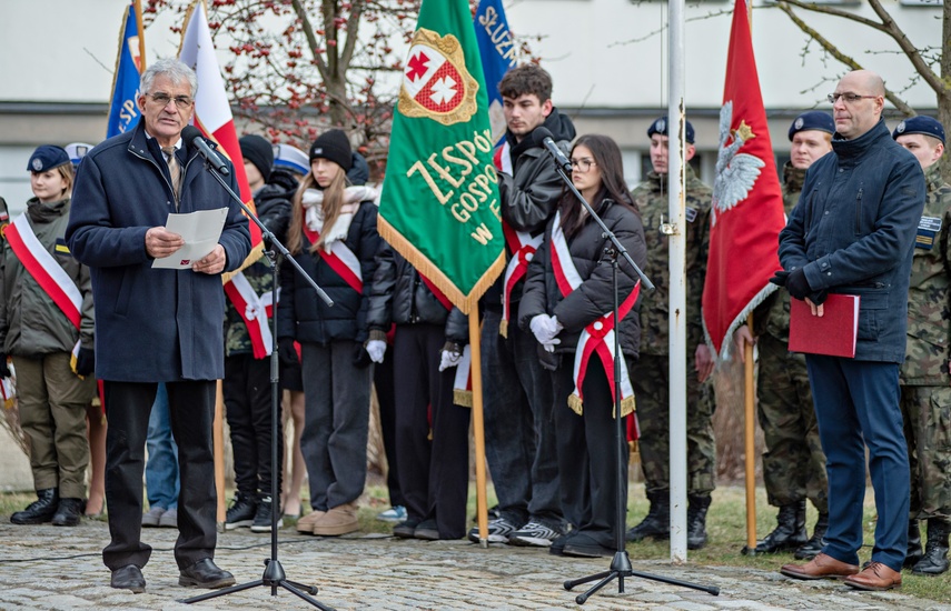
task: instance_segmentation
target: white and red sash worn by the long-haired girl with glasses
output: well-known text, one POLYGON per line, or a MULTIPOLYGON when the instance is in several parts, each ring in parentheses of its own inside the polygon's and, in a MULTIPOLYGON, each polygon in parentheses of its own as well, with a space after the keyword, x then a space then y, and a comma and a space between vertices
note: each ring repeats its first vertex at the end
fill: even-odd
MULTIPOLYGON (((552 268, 555 272, 555 282, 562 297, 567 297, 577 289, 583 279, 575 269, 568 243, 561 228, 561 212, 555 213, 554 229, 552 230, 552 268)), ((631 294, 624 299, 618 308, 618 317, 623 320, 634 307, 641 292, 640 280, 634 286, 631 294)), ((583 412, 584 397, 582 387, 584 384, 587 363, 592 354, 597 354, 607 375, 607 384, 611 388, 611 397, 614 399, 614 312, 607 312, 587 324, 578 338, 575 350, 574 381, 575 390, 568 395, 568 407, 577 414, 583 412)), ((631 377, 627 365, 622 362, 621 367, 621 415, 627 415, 634 411, 634 388, 631 385, 631 377)), ((636 425, 635 425, 636 427, 636 425)), ((640 435, 638 435, 640 437, 640 435)))

